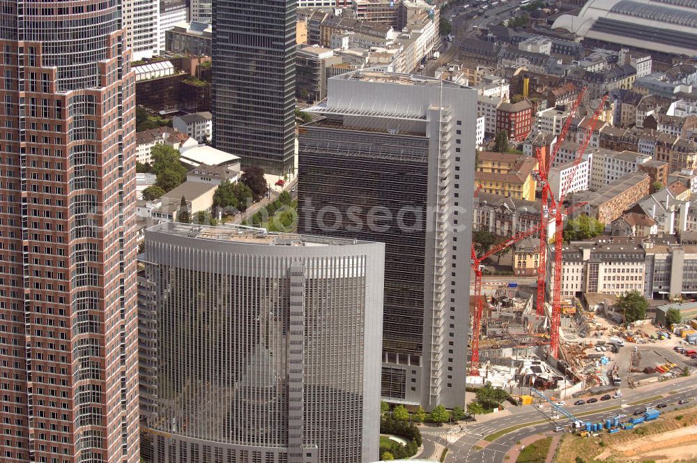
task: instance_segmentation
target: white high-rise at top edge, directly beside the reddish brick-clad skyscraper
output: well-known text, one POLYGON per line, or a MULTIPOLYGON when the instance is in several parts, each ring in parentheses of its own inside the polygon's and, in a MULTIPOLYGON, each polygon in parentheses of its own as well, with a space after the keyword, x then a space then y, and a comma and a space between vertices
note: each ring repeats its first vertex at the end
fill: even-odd
MULTIPOLYGON (((151 58, 158 53, 158 1, 124 0, 121 3, 125 46, 131 48, 133 61, 151 58)), ((68 26, 68 29, 72 27, 68 26)))

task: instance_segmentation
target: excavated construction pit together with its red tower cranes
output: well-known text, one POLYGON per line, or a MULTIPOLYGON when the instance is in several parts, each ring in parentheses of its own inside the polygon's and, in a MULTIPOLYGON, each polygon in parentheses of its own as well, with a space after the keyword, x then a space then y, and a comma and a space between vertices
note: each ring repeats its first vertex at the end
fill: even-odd
MULTIPOLYGON (((524 394, 525 388, 535 388, 557 397, 579 393, 586 388, 619 386, 615 379, 619 367, 603 354, 607 349, 596 351, 588 341, 590 333, 596 331, 593 326, 595 312, 583 311, 575 301, 562 301, 559 290, 561 231, 565 218, 580 206, 565 207, 565 195, 590 142, 606 97, 602 98, 579 146, 574 171, 567 176, 558 195, 552 192, 547 176, 584 92, 585 89, 579 93, 551 153, 544 148, 535 152, 538 170, 534 174, 541 201, 539 223, 506 238, 481 256, 477 256, 475 246, 472 247, 475 278, 470 308, 473 328, 467 377, 469 385, 491 382, 493 386, 505 388, 513 394, 524 394), (555 225, 554 236, 546 235, 550 224, 555 225), (492 287, 487 282, 483 287, 484 260, 528 238, 539 238, 537 284, 523 287, 511 282, 492 287), (549 263, 546 261, 548 247, 553 247, 549 263), (549 285, 552 291, 548 291, 549 280, 553 282, 549 285)), ((475 196, 481 188, 479 185, 475 196)))

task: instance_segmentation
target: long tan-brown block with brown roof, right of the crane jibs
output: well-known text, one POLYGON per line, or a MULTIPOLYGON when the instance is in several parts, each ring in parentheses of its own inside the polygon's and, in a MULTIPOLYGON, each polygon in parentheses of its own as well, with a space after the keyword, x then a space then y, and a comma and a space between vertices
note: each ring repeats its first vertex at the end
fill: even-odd
POLYGON ((576 192, 574 202, 585 202, 585 212, 604 224, 620 217, 634 203, 649 194, 651 178, 645 172, 631 172, 597 191, 576 192))

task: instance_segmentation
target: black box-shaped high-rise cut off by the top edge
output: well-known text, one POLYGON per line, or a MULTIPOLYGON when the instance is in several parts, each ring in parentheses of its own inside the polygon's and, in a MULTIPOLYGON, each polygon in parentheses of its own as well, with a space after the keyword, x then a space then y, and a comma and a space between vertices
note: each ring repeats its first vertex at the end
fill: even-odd
POLYGON ((296 0, 213 3, 213 143, 270 174, 293 169, 296 0))

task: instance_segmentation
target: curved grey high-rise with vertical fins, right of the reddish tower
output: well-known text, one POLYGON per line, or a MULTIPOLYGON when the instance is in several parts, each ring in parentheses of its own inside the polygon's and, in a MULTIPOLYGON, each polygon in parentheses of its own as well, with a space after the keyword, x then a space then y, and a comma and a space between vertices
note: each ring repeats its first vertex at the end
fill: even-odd
POLYGON ((146 230, 144 461, 376 461, 383 262, 382 243, 146 230))

